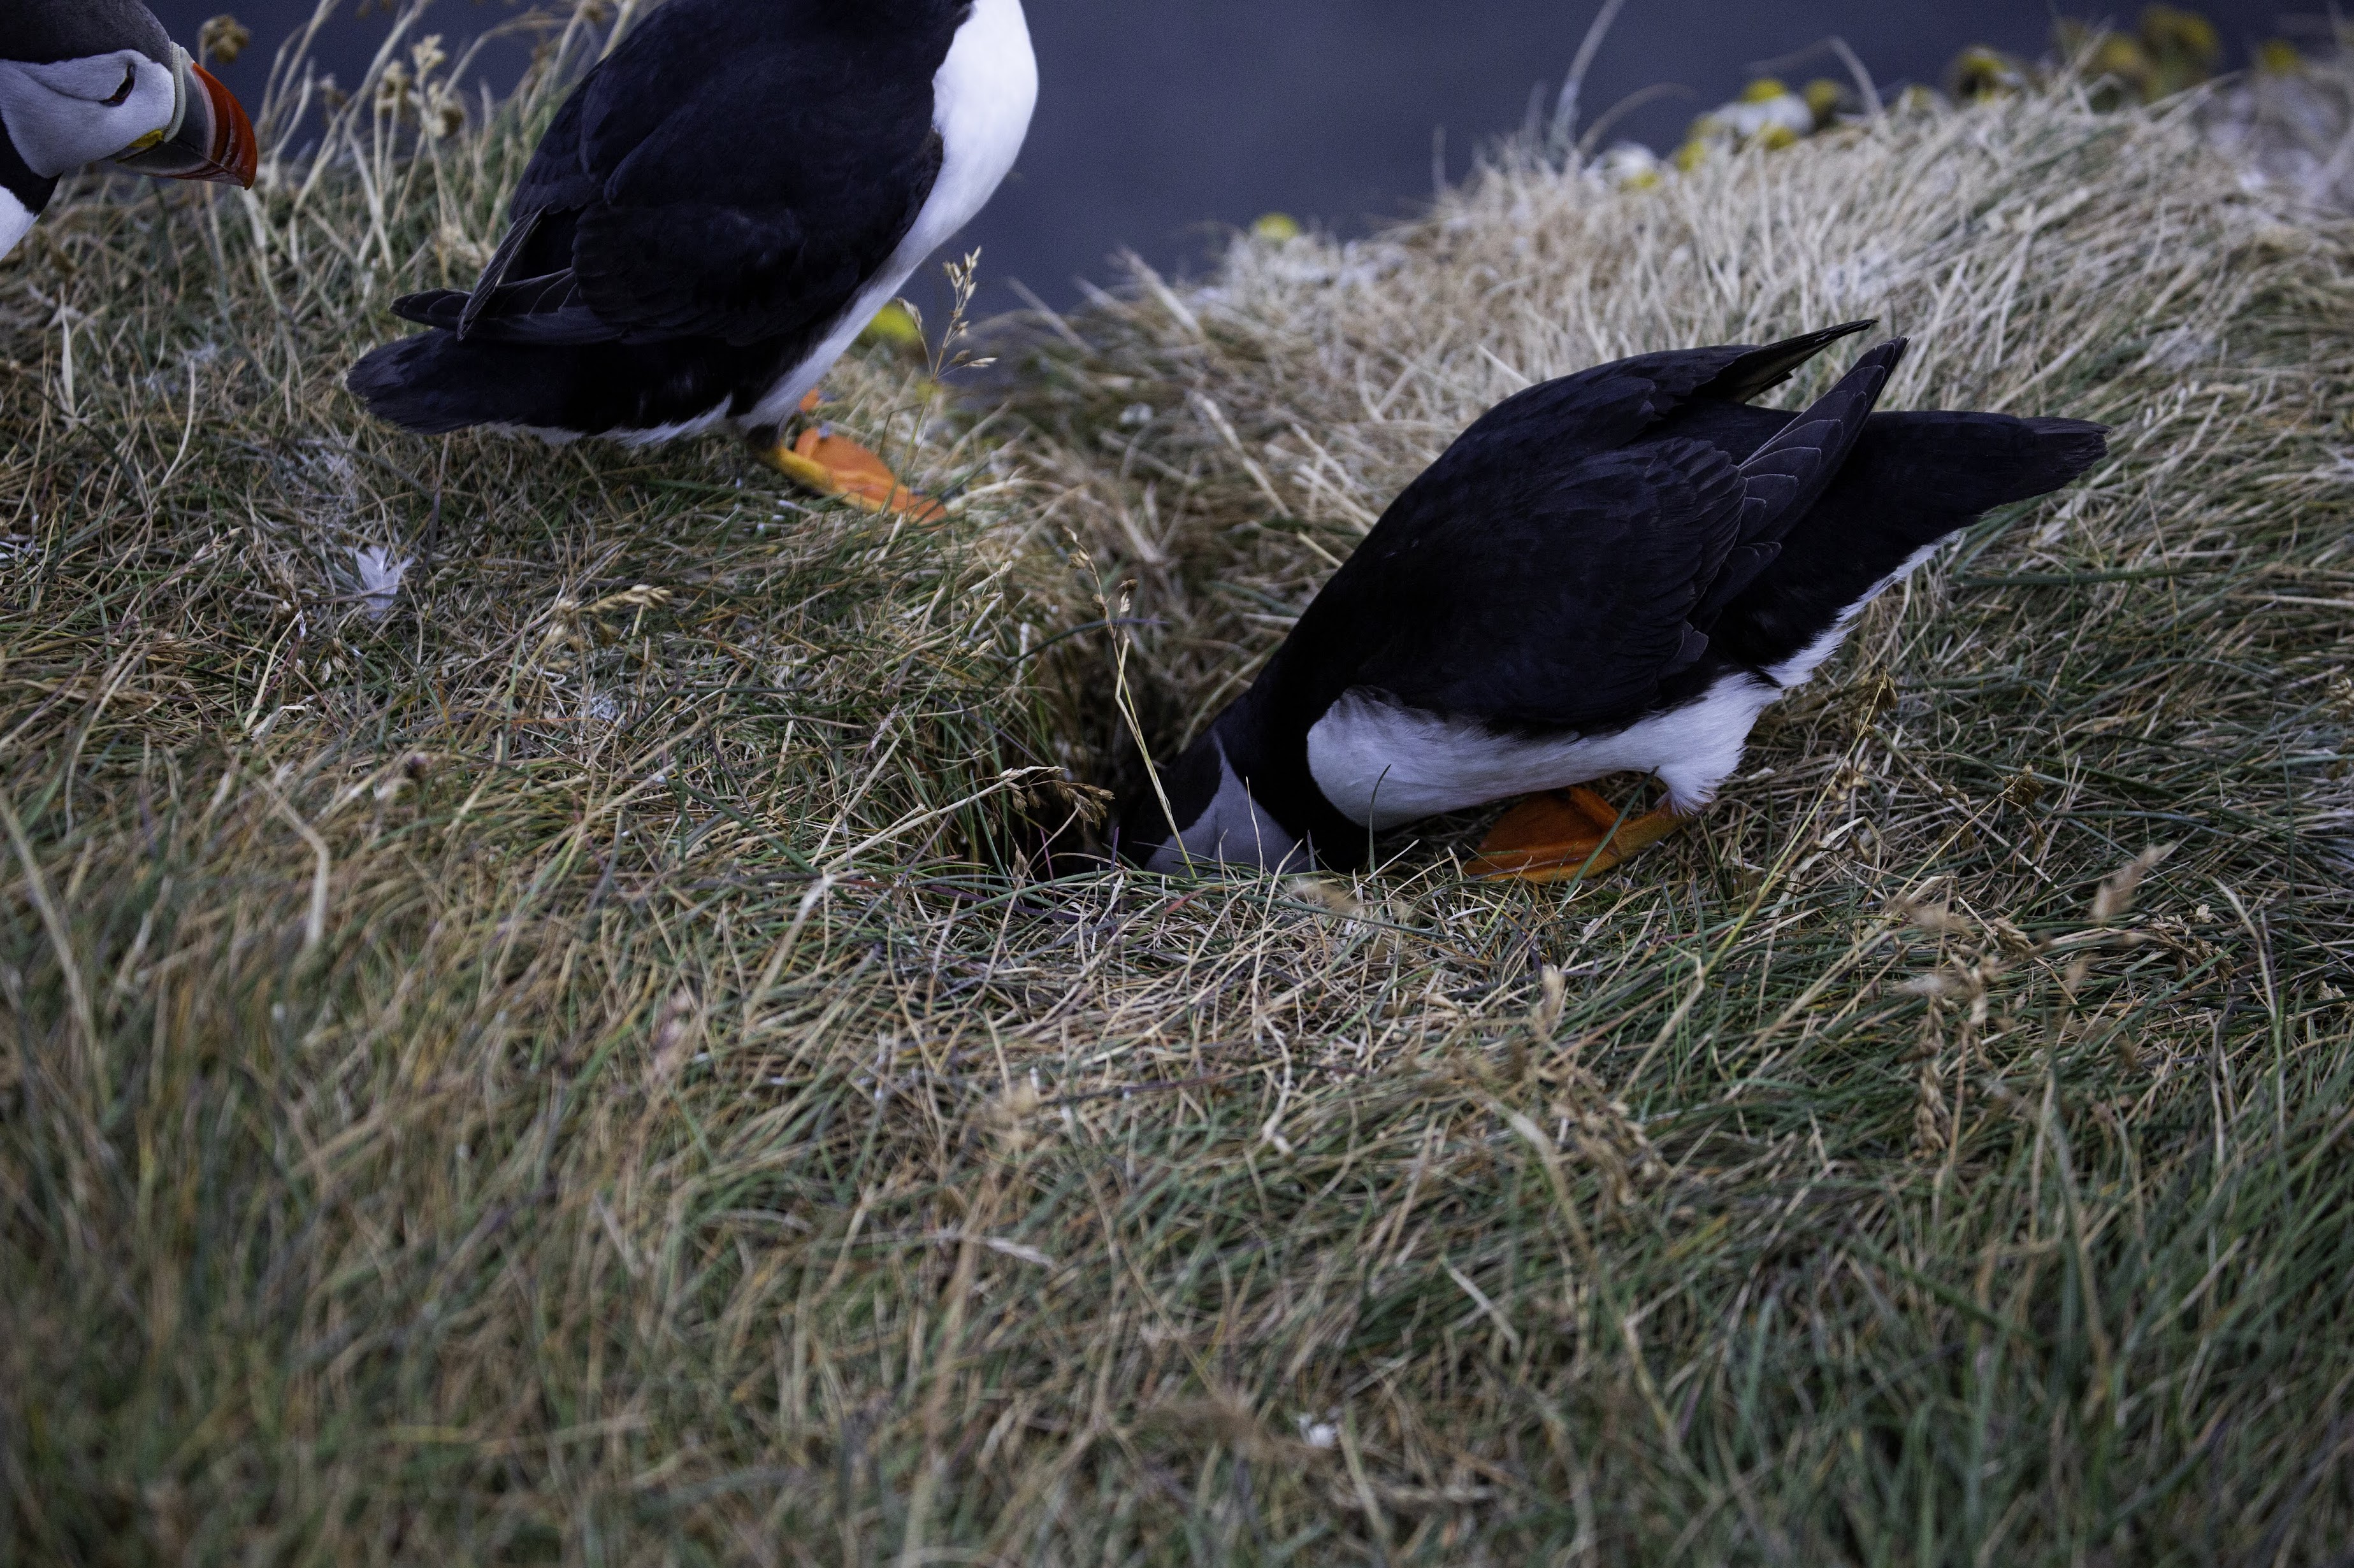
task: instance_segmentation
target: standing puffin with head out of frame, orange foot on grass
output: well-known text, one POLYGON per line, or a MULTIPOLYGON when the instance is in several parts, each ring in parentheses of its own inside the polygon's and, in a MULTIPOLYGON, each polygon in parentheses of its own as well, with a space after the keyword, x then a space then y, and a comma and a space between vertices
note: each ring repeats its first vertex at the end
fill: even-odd
POLYGON ((869 511, 930 504, 779 431, 982 210, 1038 101, 1022 0, 669 0, 556 111, 473 290, 348 377, 379 419, 650 445, 732 426, 869 511))

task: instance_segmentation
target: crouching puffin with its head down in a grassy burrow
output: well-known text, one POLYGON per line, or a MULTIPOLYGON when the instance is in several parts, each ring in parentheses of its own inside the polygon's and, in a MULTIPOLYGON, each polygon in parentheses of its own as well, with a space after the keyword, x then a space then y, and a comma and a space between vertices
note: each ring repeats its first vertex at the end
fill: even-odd
POLYGON ((1876 593, 2107 450, 2079 419, 1871 412, 1904 339, 1803 414, 1749 407, 1869 325, 1648 353, 1492 407, 1130 803, 1118 850, 1354 869, 1377 831, 1535 796, 1478 871, 1565 881, 1683 826, 1876 593), (1575 789, 1610 772, 1657 775, 1667 803, 1624 819, 1575 789))

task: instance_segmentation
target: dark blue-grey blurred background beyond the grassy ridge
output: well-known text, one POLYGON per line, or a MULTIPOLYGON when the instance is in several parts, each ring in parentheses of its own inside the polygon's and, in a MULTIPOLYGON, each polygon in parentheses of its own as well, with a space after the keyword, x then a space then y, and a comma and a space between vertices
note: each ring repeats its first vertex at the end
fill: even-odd
MULTIPOLYGON (((233 9, 254 42, 221 75, 247 101, 261 97, 271 57, 313 9, 313 0, 151 5, 191 47, 207 16, 233 9)), ((1601 0, 1026 0, 1026 9, 1038 118, 1019 170, 963 240, 984 250, 982 306, 991 311, 1017 304, 1008 278, 1066 304, 1076 278, 1113 275, 1109 257, 1121 247, 1165 271, 1198 268, 1229 226, 1262 212, 1344 235, 1412 212, 1434 170, 1462 177, 1481 144, 1523 122, 1532 89, 1551 104, 1601 0)), ((2050 45, 2055 9, 2126 26, 2140 14, 2140 5, 2104 12, 2088 0, 1631 0, 1587 75, 1584 118, 1645 87, 1681 87, 1610 134, 1671 148, 1693 115, 1737 94, 1761 61, 1780 61, 1777 75, 1794 85, 1846 80, 1829 52, 1782 61, 1829 35, 1890 92, 1940 85, 1966 45, 2036 57, 2050 45)), ((2236 66, 2265 38, 2300 35, 2300 9, 2319 7, 2210 0, 2194 9, 2236 66)), ((346 87, 391 26, 386 9, 351 12, 346 2, 318 47, 346 87)), ((513 14, 504 0, 438 0, 424 31, 457 42, 513 14)), ((485 64, 492 78, 513 80, 523 52, 485 64)), ((758 127, 744 129, 758 155, 758 127)))

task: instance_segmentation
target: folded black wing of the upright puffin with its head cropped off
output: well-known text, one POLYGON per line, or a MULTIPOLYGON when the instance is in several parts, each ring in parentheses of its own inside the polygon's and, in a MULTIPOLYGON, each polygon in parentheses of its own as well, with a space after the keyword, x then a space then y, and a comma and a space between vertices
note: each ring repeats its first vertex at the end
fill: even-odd
POLYGON ((951 35, 946 16, 822 0, 671 0, 558 111, 476 290, 393 311, 520 344, 822 327, 939 177, 932 75, 951 35))

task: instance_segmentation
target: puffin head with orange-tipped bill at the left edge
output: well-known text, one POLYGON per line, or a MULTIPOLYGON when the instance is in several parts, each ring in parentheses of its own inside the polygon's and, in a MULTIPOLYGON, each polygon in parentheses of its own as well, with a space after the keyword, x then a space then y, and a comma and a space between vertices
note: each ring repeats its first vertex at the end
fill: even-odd
POLYGON ((0 16, 0 257, 56 181, 113 160, 155 179, 252 186, 238 99, 139 0, 7 0, 0 16))

